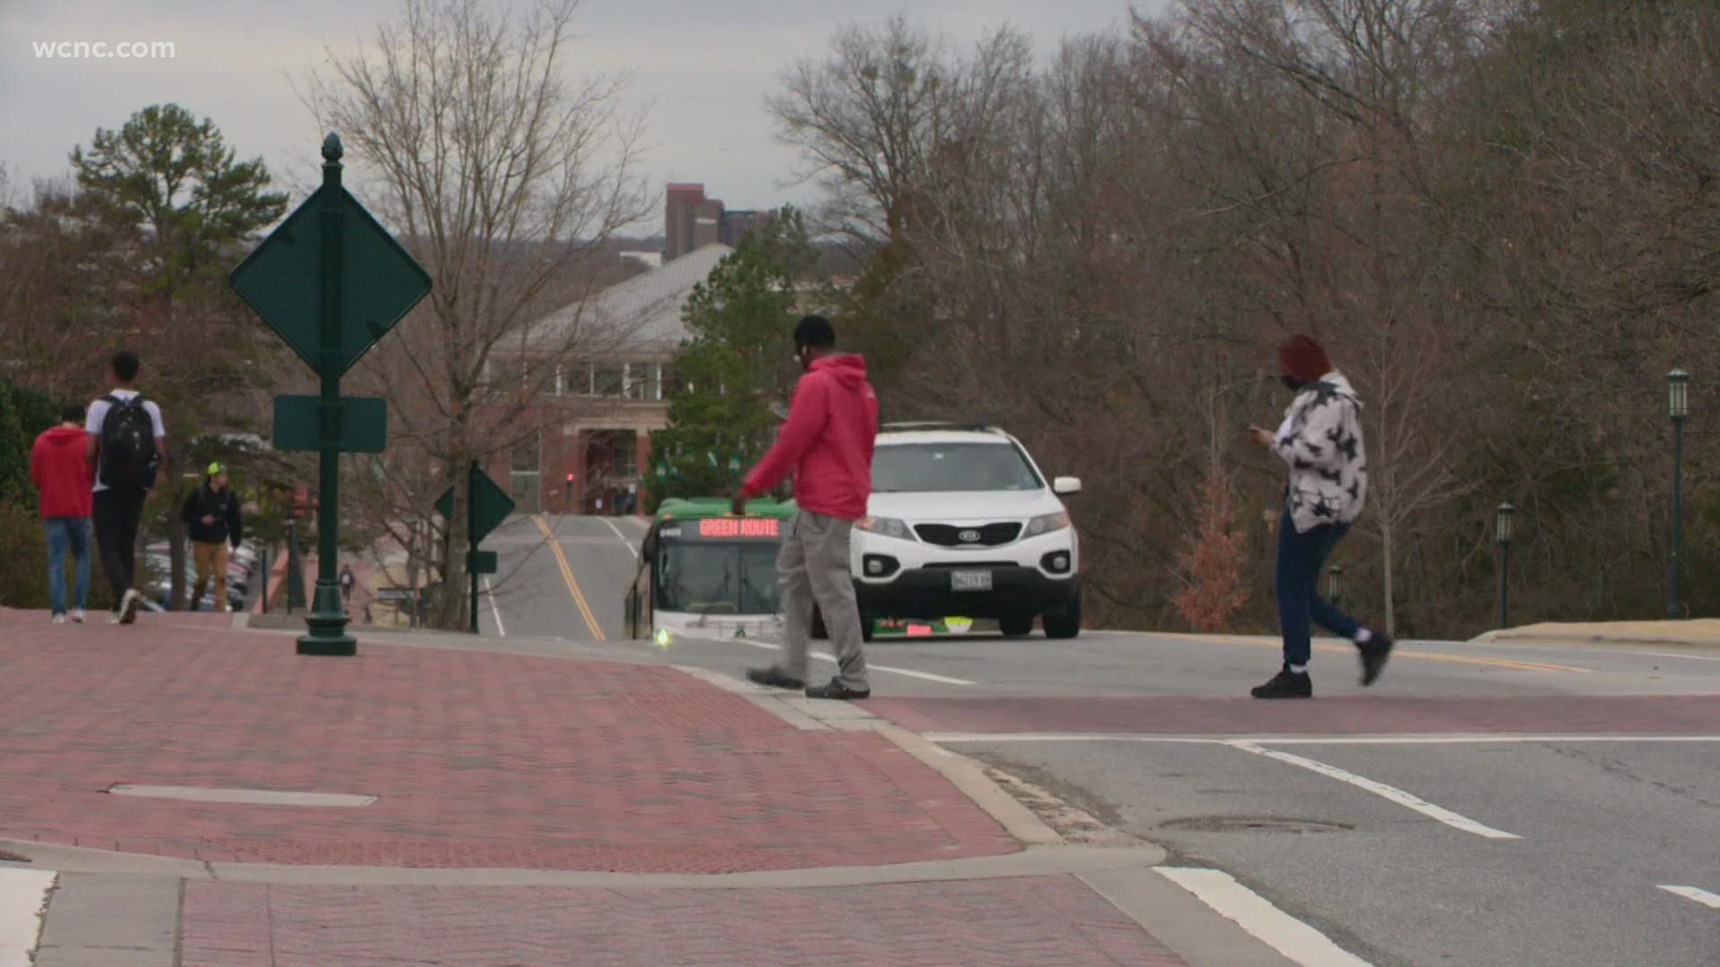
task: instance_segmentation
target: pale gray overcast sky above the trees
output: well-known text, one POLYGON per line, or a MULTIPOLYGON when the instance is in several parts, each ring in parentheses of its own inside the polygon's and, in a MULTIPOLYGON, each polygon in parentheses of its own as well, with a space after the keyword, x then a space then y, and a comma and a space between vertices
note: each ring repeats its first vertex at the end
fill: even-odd
MULTIPOLYGON (((519 7, 525 0, 492 0, 519 7)), ((1158 10, 1164 0, 1137 0, 1158 10)), ((14 191, 62 176, 74 145, 141 107, 177 102, 210 117, 239 157, 315 179, 322 132, 292 79, 363 43, 399 0, 0 0, 0 165, 14 191), (33 41, 172 41, 172 60, 38 59, 33 41)), ((1072 34, 1120 28, 1128 0, 585 0, 573 71, 635 74, 650 103, 647 172, 657 188, 700 181, 729 208, 805 201, 786 188, 793 151, 774 141, 764 96, 784 64, 822 53, 843 22, 912 10, 961 45, 1003 22, 1047 55, 1072 34)))

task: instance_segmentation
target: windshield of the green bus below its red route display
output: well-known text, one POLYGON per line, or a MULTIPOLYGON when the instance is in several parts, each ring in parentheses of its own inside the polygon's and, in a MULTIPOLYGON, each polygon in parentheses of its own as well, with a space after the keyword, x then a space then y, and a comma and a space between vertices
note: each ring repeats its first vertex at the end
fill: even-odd
POLYGON ((657 547, 657 611, 776 614, 776 544, 716 542, 657 547))

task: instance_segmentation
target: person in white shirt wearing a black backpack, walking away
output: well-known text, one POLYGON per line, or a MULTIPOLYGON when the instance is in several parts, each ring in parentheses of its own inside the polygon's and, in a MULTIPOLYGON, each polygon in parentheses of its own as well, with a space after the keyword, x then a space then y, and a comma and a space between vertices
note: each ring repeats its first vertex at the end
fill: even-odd
POLYGON ((141 366, 136 353, 117 353, 114 389, 89 404, 84 423, 89 432, 89 459, 96 466, 91 504, 96 547, 115 601, 110 625, 131 625, 138 619, 143 595, 131 587, 138 566, 138 521, 167 458, 162 408, 132 385, 141 366))

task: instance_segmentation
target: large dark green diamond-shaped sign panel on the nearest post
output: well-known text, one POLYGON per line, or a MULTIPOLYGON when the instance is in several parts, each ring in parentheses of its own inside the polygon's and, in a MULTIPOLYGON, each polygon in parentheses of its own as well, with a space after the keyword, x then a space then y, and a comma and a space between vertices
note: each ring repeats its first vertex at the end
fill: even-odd
MULTIPOLYGON (((318 188, 263 244, 232 270, 229 282, 287 346, 322 373, 322 225, 318 188)), ((430 291, 430 275, 353 198, 341 191, 341 346, 337 373, 370 351, 430 291)))

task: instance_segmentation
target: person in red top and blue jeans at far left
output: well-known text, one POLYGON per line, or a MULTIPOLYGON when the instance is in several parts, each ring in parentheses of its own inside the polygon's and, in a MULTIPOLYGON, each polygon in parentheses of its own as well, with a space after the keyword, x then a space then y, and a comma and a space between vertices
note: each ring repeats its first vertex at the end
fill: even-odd
POLYGON ((41 494, 41 521, 48 532, 48 604, 53 623, 65 623, 65 552, 72 554, 72 621, 83 625, 89 597, 89 434, 84 408, 69 403, 60 425, 43 430, 29 447, 29 478, 41 494))

